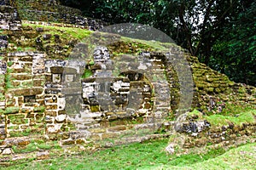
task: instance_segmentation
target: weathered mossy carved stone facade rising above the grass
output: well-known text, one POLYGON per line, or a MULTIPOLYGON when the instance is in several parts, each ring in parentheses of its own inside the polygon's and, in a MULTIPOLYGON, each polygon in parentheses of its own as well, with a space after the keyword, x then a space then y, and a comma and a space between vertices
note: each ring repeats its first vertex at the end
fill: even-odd
MULTIPOLYGON (((90 65, 93 74, 81 81, 85 62, 47 58, 39 52, 15 52, 1 59, 1 139, 29 136, 80 144, 169 128, 163 118, 170 111, 170 96, 155 98, 160 82, 148 82, 143 69, 114 75, 114 69, 129 62, 113 63, 108 53, 100 52, 90 65)), ((151 65, 151 79, 164 71, 157 69, 163 63, 155 56, 137 64, 151 65)))

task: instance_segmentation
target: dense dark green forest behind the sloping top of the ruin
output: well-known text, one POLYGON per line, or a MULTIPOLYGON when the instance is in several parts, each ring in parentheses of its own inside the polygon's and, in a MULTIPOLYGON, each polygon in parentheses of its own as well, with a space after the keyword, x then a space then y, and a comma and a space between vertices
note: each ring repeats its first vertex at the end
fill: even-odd
POLYGON ((256 86, 254 0, 61 0, 110 24, 153 26, 235 82, 256 86))

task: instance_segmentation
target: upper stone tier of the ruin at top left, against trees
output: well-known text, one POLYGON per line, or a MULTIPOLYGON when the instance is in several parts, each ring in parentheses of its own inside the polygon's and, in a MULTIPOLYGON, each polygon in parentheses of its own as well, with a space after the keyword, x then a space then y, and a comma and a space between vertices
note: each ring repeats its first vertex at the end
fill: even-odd
POLYGON ((106 23, 102 20, 86 18, 76 8, 62 6, 59 0, 16 0, 21 20, 40 22, 51 26, 69 25, 96 31, 106 23))

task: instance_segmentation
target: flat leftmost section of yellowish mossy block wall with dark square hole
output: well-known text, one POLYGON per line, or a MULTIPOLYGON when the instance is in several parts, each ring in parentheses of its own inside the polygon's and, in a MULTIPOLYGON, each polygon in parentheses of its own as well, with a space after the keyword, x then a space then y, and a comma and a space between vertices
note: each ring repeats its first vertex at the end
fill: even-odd
POLYGON ((4 94, 7 137, 44 134, 44 55, 8 54, 4 94))

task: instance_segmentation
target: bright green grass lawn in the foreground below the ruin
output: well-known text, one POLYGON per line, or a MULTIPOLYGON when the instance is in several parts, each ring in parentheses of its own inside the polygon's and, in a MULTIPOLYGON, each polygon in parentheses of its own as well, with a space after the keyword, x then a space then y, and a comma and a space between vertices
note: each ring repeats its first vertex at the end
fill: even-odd
MULTIPOLYGON (((44 161, 26 160, 5 169, 253 169, 256 144, 246 144, 226 152, 224 149, 205 153, 166 155, 168 139, 127 144, 79 155, 51 155, 44 161)), ((43 143, 44 144, 44 143, 43 143)), ((28 144, 23 151, 37 150, 40 144, 28 144)), ((43 148, 49 149, 50 144, 43 148)), ((42 147, 41 147, 42 148, 42 147)), ((14 148, 19 153, 20 149, 14 148)))

